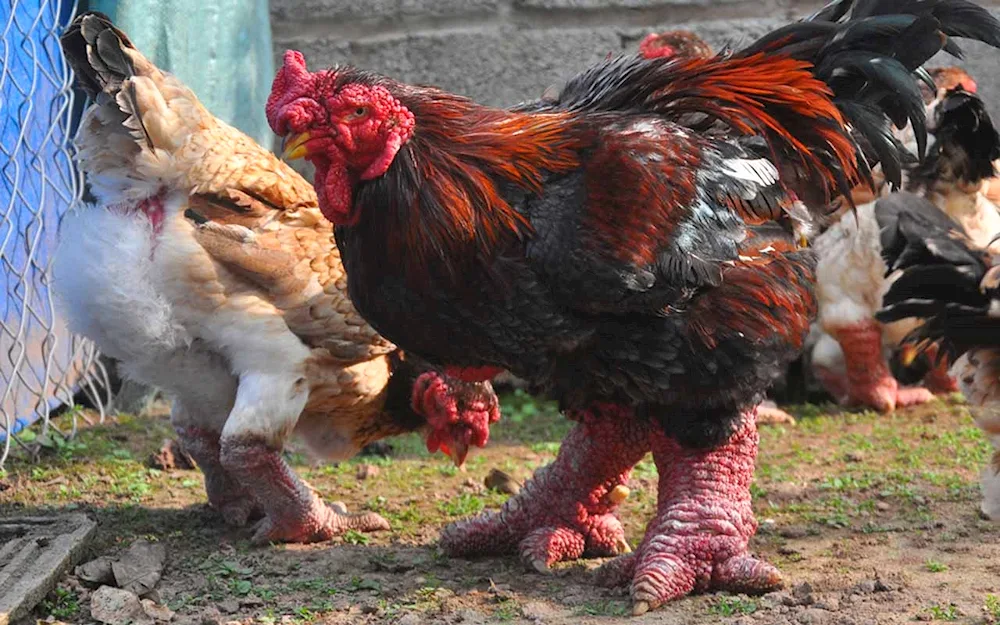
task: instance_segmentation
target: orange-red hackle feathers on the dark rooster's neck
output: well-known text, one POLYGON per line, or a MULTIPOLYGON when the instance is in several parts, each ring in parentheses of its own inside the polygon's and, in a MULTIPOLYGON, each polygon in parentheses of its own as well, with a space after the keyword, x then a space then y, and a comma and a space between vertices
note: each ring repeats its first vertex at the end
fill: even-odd
POLYGON ((422 218, 403 234, 416 274, 434 257, 491 258, 502 240, 530 232, 497 181, 540 192, 547 172, 580 164, 568 113, 511 113, 437 90, 415 89, 404 101, 418 119, 411 145, 419 184, 435 205, 412 207, 422 218))

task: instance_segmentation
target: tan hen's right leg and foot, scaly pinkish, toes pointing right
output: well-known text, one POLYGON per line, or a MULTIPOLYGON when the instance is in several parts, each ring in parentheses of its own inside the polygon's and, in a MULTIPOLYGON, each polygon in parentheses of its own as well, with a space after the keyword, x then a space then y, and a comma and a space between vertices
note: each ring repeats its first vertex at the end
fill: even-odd
POLYGON ((222 464, 252 488, 266 514, 253 542, 310 543, 347 530, 372 532, 389 529, 389 522, 374 512, 345 514, 323 503, 312 487, 299 479, 278 450, 253 439, 222 441, 222 464))

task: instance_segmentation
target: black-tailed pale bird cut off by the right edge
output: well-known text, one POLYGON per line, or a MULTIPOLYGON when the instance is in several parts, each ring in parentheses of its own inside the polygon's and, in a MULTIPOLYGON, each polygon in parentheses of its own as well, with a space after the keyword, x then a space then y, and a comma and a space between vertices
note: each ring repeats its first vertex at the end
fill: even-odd
POLYGON ((972 406, 976 423, 996 453, 982 473, 984 514, 1000 521, 1000 258, 972 240, 958 224, 923 198, 905 207, 880 200, 885 261, 897 274, 877 317, 916 318, 906 337, 931 350, 951 371, 972 406))

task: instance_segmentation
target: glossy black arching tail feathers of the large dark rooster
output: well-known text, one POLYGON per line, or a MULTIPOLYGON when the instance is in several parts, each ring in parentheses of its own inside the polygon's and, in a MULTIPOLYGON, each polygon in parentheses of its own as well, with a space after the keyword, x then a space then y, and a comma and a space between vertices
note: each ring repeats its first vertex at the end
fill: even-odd
POLYGON ((1000 48, 1000 21, 969 0, 836 0, 804 21, 775 30, 740 55, 783 54, 808 61, 834 92, 834 102, 855 131, 870 165, 883 164, 893 188, 905 160, 886 119, 909 123, 923 157, 925 109, 917 80, 922 65, 941 50, 960 55, 950 37, 1000 48))

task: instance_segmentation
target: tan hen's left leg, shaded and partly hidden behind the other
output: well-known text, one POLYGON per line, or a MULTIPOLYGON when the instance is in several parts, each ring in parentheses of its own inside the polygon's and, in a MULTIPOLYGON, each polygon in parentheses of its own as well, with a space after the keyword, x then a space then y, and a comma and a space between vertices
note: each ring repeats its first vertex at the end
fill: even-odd
POLYGON ((219 511, 229 525, 243 527, 259 519, 261 508, 253 493, 229 475, 219 460, 219 432, 199 427, 178 427, 181 447, 194 458, 205 475, 208 503, 219 511))

